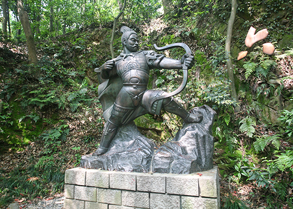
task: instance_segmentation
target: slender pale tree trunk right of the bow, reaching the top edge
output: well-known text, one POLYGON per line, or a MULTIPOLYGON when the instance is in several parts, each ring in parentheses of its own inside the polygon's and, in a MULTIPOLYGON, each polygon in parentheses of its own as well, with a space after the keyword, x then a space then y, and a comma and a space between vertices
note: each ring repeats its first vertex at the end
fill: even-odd
POLYGON ((237 0, 232 0, 231 2, 231 14, 228 21, 228 27, 227 27, 227 37, 226 37, 226 43, 225 43, 225 50, 227 52, 227 55, 229 56, 229 59, 227 61, 227 69, 228 69, 228 76, 231 80, 230 89, 232 92, 232 98, 236 101, 237 105, 235 107, 235 111, 238 112, 240 110, 239 108, 239 100, 235 89, 235 82, 234 82, 234 73, 232 68, 232 60, 230 56, 230 45, 231 45, 231 39, 232 39, 232 29, 234 20, 236 17, 236 9, 237 9, 237 0))

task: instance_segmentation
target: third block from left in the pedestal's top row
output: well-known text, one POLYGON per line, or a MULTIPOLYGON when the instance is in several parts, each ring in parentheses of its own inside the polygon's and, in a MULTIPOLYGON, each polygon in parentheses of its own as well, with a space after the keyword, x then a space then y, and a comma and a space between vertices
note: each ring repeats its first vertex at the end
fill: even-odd
POLYGON ((110 188, 136 191, 135 173, 110 173, 110 188))

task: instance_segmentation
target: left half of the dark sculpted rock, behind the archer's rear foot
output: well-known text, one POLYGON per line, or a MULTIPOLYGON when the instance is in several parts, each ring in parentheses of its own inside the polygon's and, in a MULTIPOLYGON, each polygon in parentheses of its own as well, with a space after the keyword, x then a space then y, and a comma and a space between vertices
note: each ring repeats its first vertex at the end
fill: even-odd
POLYGON ((119 127, 106 154, 98 157, 84 155, 80 167, 147 173, 150 170, 154 147, 155 144, 142 135, 132 122, 119 127))

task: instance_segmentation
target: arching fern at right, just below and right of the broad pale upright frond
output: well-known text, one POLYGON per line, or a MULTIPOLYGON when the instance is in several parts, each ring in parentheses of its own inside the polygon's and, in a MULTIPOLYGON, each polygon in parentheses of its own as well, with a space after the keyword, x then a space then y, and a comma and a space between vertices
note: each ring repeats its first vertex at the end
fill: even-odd
POLYGON ((264 149, 272 144, 274 148, 278 149, 280 148, 281 142, 280 142, 280 135, 275 134, 272 136, 264 135, 264 136, 258 136, 257 140, 253 143, 254 149, 256 152, 264 151, 264 149))

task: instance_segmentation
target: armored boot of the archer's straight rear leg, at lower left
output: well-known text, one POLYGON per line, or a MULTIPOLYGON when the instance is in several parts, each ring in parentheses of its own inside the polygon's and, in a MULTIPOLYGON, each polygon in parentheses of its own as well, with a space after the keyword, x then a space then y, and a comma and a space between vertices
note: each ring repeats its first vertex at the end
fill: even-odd
POLYGON ((101 137, 100 147, 93 153, 93 156, 100 156, 108 151, 111 141, 117 132, 117 129, 118 125, 112 123, 110 120, 106 122, 101 137))

